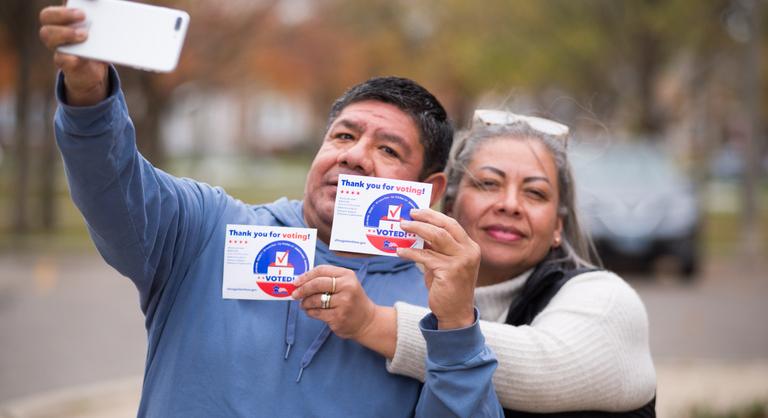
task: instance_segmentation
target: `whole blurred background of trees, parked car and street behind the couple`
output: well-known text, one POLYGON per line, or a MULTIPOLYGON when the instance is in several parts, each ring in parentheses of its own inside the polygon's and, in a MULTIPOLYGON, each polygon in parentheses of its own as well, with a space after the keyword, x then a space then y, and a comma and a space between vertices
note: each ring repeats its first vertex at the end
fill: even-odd
MULTIPOLYGON (((53 140, 37 15, 58 3, 0 2, 0 417, 134 416, 138 298, 53 140)), ((139 148, 247 202, 301 198, 330 104, 371 76, 419 81, 457 126, 569 124, 587 225, 648 309, 659 416, 768 416, 765 1, 148 3, 191 23, 173 73, 119 68, 139 148)))

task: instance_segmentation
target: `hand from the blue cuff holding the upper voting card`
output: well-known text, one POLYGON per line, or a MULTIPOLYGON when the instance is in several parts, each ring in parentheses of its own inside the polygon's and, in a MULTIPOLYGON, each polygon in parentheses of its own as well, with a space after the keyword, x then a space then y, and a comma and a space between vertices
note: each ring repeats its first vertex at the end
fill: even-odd
POLYGON ((424 239, 425 248, 398 248, 397 255, 424 265, 429 308, 439 329, 456 329, 475 321, 474 300, 480 267, 478 246, 453 218, 432 209, 411 211, 403 231, 424 239))

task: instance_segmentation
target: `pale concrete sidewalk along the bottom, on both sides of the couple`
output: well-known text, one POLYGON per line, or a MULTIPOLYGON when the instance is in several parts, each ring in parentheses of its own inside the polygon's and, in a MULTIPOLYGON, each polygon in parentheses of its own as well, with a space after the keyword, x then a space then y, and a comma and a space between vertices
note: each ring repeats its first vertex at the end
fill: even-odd
MULTIPOLYGON (((693 406, 713 411, 768 401, 768 359, 724 363, 659 361, 657 416, 686 418, 693 406)), ((0 404, 0 418, 136 416, 141 377, 42 393, 0 404)))

